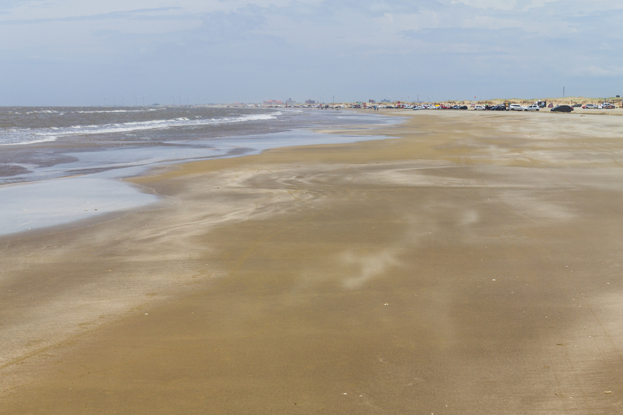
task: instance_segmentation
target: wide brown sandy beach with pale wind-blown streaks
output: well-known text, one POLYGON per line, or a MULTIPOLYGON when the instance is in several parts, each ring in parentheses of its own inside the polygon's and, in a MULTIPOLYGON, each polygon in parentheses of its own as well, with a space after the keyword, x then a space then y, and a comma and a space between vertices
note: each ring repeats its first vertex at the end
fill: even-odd
POLYGON ((0 240, 0 413, 621 413, 623 118, 388 113, 0 240))

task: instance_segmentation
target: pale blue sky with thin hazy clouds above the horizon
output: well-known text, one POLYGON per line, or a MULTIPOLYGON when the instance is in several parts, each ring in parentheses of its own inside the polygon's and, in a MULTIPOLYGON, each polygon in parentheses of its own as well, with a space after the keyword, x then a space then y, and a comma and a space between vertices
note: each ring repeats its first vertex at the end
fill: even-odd
POLYGON ((622 22, 623 0, 0 0, 0 105, 623 95, 622 22))

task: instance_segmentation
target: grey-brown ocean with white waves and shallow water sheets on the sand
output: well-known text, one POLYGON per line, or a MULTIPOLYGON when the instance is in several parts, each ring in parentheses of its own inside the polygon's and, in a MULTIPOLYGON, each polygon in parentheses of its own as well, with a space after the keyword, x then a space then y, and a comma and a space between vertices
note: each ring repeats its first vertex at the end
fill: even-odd
POLYGON ((302 108, 0 108, 0 235, 155 203, 157 195, 121 179, 156 166, 380 139, 313 130, 397 121, 302 108))

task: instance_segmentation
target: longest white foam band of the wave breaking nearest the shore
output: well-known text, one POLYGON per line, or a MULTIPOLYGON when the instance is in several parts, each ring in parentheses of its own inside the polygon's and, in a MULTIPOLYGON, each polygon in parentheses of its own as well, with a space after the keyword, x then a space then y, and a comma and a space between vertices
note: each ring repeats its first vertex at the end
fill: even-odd
POLYGON ((0 146, 15 144, 34 144, 36 142, 54 141, 64 136, 88 136, 92 134, 128 133, 130 131, 145 131, 150 129, 164 129, 176 127, 207 126, 212 124, 244 123, 247 121, 263 121, 275 119, 272 114, 240 115, 235 117, 188 119, 154 119, 151 121, 132 121, 129 123, 102 124, 102 125, 75 125, 65 128, 50 127, 39 129, 5 129, 0 130, 0 146))

